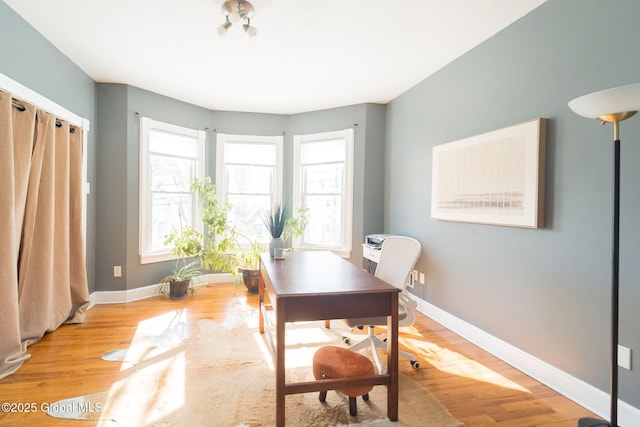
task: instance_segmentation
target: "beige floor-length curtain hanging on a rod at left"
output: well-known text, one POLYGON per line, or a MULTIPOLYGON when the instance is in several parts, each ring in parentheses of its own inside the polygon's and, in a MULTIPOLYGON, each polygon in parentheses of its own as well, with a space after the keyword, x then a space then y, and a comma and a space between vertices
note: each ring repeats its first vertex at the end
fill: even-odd
POLYGON ((82 322, 89 301, 82 129, 12 101, 0 92, 0 378, 46 332, 82 322))

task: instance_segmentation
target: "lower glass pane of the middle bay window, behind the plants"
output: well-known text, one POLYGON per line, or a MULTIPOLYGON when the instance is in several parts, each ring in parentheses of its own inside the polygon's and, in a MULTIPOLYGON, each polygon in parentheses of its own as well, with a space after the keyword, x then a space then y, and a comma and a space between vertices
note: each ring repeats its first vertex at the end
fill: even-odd
POLYGON ((262 213, 269 210, 271 196, 230 195, 229 202, 233 205, 233 209, 229 212, 229 220, 236 225, 238 231, 249 235, 252 239, 268 241, 268 232, 262 222, 262 213))

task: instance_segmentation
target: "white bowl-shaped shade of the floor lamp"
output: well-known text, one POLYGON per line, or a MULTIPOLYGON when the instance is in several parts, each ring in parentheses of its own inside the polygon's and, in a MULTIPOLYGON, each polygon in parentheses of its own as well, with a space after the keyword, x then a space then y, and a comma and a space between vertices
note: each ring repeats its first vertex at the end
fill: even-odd
POLYGON ((574 113, 590 119, 640 110, 640 83, 618 86, 581 96, 569 102, 574 113))

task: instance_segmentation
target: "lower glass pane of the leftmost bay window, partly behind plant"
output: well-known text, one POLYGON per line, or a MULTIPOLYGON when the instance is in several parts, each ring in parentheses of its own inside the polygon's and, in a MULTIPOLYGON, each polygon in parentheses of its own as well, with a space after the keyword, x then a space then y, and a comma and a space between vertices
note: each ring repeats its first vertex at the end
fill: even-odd
POLYGON ((151 250, 171 249, 164 244, 165 236, 181 226, 192 225, 192 196, 153 193, 151 198, 151 250))

